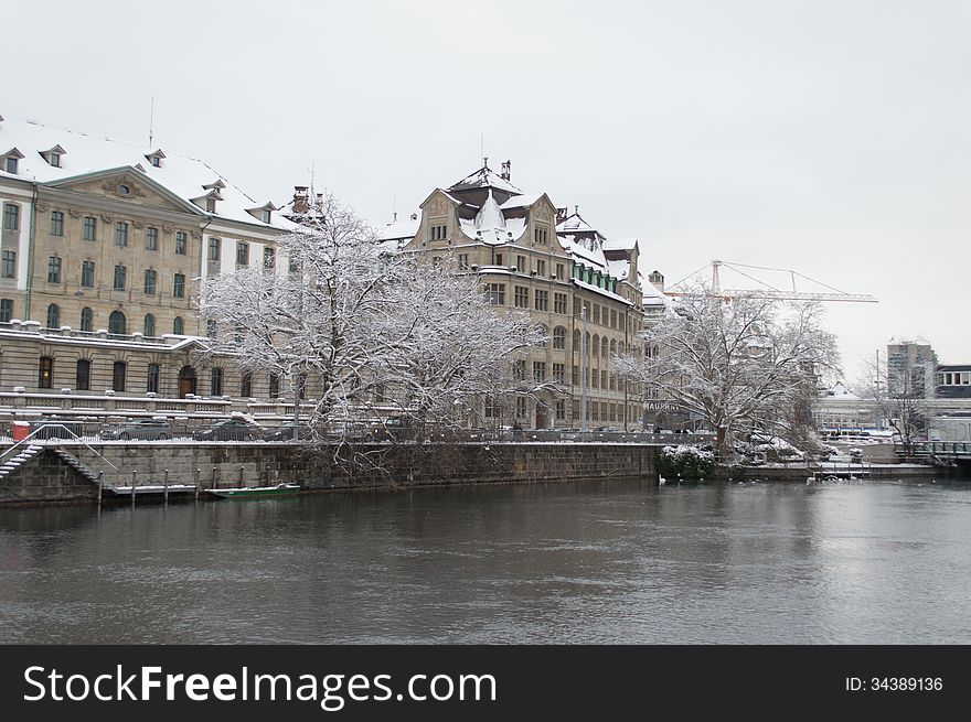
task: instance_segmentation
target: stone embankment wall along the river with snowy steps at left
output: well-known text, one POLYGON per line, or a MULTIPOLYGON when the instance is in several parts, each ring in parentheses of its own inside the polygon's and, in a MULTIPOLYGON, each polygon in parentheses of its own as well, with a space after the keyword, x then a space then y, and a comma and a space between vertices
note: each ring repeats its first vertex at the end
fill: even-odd
MULTIPOLYGON (((522 483, 587 478, 658 481, 659 446, 648 444, 402 444, 302 449, 292 444, 128 443, 61 446, 108 486, 199 484, 202 488, 295 482, 305 489, 413 487, 437 484, 522 483), (168 471, 168 476, 166 472, 168 471)), ((39 459, 45 459, 44 453, 39 459)), ((51 461, 51 464, 55 462, 51 461)), ((57 473, 68 474, 57 463, 57 473)), ((70 468, 70 467, 68 467, 70 468)), ((51 467, 24 464, 0 479, 0 503, 58 500, 44 481, 51 467)), ((78 484, 83 485, 79 479, 78 484)), ((88 484, 90 484, 88 482, 88 484)), ((71 498, 77 498, 72 487, 71 498)), ((64 497, 67 500, 67 497, 64 497)))

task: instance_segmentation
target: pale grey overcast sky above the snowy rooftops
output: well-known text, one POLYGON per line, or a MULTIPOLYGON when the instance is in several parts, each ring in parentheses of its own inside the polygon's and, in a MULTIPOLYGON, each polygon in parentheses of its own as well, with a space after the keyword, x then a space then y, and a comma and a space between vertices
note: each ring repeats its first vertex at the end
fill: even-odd
MULTIPOLYGON (((374 224, 480 163, 676 281, 792 268, 845 376, 892 336, 971 363, 971 2, 7 0, 0 115, 202 158, 374 224), (803 290, 821 290, 805 284, 803 290)), ((769 281, 782 282, 762 273, 769 281)), ((747 282, 735 277, 739 285, 747 282)))

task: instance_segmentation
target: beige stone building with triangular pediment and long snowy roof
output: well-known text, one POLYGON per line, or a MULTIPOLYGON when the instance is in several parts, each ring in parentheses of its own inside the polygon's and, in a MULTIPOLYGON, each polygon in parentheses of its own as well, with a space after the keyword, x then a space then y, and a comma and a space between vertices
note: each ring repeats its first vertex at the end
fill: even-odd
POLYGON ((199 283, 275 265, 275 212, 202 161, 0 118, 0 392, 280 396, 192 353, 199 283))

